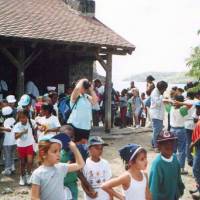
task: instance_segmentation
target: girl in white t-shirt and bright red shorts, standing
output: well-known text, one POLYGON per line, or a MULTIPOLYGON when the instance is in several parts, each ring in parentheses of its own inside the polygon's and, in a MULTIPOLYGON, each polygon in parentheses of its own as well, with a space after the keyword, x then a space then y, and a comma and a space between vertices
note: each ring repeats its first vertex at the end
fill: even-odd
POLYGON ((35 121, 29 118, 29 111, 19 110, 17 113, 18 123, 15 124, 13 132, 17 140, 17 151, 20 159, 20 181, 19 185, 30 184, 30 175, 33 166, 33 144, 35 143, 33 131, 36 128, 35 121), (25 176, 25 168, 27 174, 25 176))

